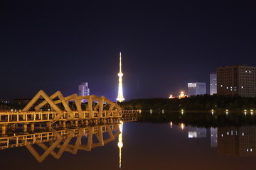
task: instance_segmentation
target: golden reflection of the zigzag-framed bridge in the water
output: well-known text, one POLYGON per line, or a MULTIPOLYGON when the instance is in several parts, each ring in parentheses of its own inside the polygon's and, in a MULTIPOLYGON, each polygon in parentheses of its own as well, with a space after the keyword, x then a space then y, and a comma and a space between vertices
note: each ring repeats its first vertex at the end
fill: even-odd
POLYGON ((38 162, 43 162, 48 155, 59 159, 64 152, 77 154, 78 150, 90 151, 92 148, 104 146, 108 142, 112 142, 119 133, 118 124, 36 132, 27 135, 0 137, 0 149, 26 146, 38 162), (72 140, 73 137, 75 137, 75 141, 72 140), (36 145, 43 149, 43 153, 39 154, 36 145))

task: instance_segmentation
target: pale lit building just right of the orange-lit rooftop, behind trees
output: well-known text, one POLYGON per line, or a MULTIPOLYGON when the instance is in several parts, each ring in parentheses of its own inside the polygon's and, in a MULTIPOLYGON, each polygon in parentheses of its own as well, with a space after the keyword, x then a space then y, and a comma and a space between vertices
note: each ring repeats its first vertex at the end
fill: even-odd
POLYGON ((206 94, 206 83, 188 83, 188 96, 206 94))

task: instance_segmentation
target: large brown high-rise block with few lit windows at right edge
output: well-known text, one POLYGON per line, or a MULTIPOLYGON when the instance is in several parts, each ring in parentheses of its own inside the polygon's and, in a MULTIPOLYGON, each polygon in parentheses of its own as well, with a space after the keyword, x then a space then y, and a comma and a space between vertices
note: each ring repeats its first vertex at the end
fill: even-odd
POLYGON ((256 67, 245 65, 218 67, 217 94, 224 96, 256 96, 256 67))

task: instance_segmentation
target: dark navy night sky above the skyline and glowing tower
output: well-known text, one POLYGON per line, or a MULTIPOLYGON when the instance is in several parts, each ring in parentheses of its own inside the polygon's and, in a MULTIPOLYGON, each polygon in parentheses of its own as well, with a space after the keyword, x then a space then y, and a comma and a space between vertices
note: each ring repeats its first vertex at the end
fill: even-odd
POLYGON ((217 67, 256 66, 256 1, 0 1, 0 98, 167 98, 217 67))

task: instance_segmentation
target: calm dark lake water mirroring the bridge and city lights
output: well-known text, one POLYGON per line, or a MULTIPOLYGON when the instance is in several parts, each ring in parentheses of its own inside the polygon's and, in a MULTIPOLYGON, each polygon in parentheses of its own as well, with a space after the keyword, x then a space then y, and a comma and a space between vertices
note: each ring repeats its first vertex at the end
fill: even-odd
POLYGON ((62 138, 6 149, 1 137, 0 169, 256 169, 255 125, 200 128, 131 122, 123 124, 122 133, 117 125, 90 130, 57 130, 62 138), (104 146, 97 144, 99 139, 104 146))

